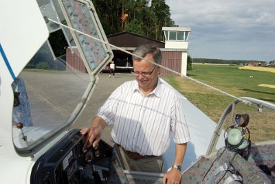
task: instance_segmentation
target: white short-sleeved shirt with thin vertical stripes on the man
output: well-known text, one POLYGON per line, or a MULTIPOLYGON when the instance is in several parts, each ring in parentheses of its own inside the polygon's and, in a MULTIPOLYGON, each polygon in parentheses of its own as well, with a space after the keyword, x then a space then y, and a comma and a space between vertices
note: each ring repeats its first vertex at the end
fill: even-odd
POLYGON ((125 82, 113 91, 97 116, 107 126, 113 124, 111 141, 141 155, 164 154, 169 148, 170 131, 175 143, 190 141, 179 95, 161 80, 148 95, 142 94, 136 80, 125 82))

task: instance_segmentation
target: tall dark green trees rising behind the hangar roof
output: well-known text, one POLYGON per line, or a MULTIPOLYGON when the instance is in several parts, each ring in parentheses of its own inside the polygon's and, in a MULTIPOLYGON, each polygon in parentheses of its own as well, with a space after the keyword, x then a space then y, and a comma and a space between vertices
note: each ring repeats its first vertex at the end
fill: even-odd
POLYGON ((164 41, 162 27, 177 26, 165 0, 93 0, 106 35, 132 32, 164 41))

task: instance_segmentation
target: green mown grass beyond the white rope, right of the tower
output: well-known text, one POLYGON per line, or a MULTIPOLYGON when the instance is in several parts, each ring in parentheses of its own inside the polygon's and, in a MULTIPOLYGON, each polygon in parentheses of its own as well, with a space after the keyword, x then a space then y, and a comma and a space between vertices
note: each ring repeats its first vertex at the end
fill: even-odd
POLYGON ((188 76, 236 96, 275 102, 275 90, 259 84, 275 84, 275 74, 239 69, 238 66, 194 65, 188 76))

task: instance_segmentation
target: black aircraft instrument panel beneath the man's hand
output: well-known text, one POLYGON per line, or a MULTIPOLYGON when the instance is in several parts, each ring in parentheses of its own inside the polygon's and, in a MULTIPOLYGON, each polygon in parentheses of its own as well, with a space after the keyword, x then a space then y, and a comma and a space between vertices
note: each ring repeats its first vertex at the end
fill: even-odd
POLYGON ((109 176, 113 148, 100 141, 83 151, 83 136, 71 130, 34 164, 30 183, 104 183, 109 176))

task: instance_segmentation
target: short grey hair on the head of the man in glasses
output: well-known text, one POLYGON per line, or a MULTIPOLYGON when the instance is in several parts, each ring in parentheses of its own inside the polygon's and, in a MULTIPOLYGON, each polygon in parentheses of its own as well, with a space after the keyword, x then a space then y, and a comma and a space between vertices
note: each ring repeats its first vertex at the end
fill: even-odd
MULTIPOLYGON (((148 44, 140 45, 133 51, 133 54, 144 58, 146 54, 151 54, 154 58, 155 63, 160 64, 162 62, 162 51, 157 47, 157 45, 148 44)), ((142 60, 136 56, 132 56, 133 60, 142 60)))

